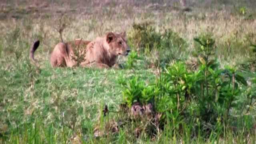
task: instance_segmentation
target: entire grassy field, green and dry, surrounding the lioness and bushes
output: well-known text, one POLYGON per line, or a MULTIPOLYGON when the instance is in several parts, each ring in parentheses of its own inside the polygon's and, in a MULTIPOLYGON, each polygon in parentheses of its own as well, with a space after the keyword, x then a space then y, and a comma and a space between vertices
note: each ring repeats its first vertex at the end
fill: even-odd
MULTIPOLYGON (((0 13, 4 13, 0 14, 0 143, 254 143, 255 100, 246 88, 241 87, 244 91, 235 102, 240 105, 230 110, 232 124, 219 122, 211 126, 219 130, 207 130, 206 134, 204 129, 210 124, 182 118, 168 121, 167 126, 157 131, 147 120, 130 120, 127 114, 118 112, 123 102, 123 88, 118 80, 138 76, 146 84, 155 82, 154 66, 160 58, 164 58, 164 65, 176 61, 193 63, 197 46, 194 38, 209 32, 216 40, 214 58, 222 68, 230 65, 239 69, 250 60, 246 71, 243 69, 241 73, 250 83, 255 77, 250 42, 256 43, 253 9, 256 3, 191 0, 188 6, 192 11, 184 12, 172 0, 129 2, 114 0, 101 5, 98 1, 80 0, 49 0, 44 4, 26 0, 3 2, 0 6, 0 13), (160 50, 152 44, 151 51, 139 53, 143 60, 135 62, 135 66, 130 64, 134 68, 51 68, 48 58, 54 45, 60 42, 56 30, 60 19, 66 24, 64 41, 92 40, 109 31, 126 30, 130 34, 134 32, 134 23, 149 22, 154 28, 150 34, 161 37, 164 30, 171 30, 186 46, 182 52, 173 52, 173 56, 162 45, 160 50), (41 40, 35 55, 40 68, 28 58, 29 48, 36 39, 41 40), (107 116, 102 112, 105 105, 112 111, 107 116), (171 127, 173 123, 180 129, 171 127)), ((134 40, 132 36, 129 38, 130 42, 134 40)), ((173 44, 164 46, 174 50, 173 44)), ((139 49, 130 45, 134 51, 139 49)), ((127 58, 121 58, 119 62, 126 61, 127 58)))

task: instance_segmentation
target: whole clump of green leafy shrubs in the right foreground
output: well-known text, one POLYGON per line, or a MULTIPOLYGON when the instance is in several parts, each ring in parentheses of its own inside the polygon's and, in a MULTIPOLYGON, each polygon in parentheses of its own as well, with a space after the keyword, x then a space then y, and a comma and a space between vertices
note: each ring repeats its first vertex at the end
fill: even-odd
POLYGON ((161 115, 156 129, 176 133, 193 123, 192 135, 220 134, 223 126, 236 123, 231 110, 241 104, 237 101, 247 82, 236 67, 220 68, 214 58, 212 35, 201 34, 194 40, 200 62, 198 71, 190 72, 184 63, 176 62, 165 68, 154 83, 146 84, 138 77, 120 79, 123 100, 128 106, 135 102, 153 104, 154 112, 161 115))

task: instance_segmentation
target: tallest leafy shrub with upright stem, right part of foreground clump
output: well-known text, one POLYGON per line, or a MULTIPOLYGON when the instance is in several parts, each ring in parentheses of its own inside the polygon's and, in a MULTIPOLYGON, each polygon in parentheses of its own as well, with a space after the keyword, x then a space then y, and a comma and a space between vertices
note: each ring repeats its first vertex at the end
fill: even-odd
POLYGON ((200 82, 200 114, 205 122, 216 124, 217 119, 227 118, 232 104, 241 94, 238 84, 247 85, 246 80, 238 74, 236 68, 229 66, 226 69, 218 67, 214 55, 215 40, 211 35, 201 35, 194 38, 200 44, 198 58, 200 61, 199 72, 203 76, 200 82))

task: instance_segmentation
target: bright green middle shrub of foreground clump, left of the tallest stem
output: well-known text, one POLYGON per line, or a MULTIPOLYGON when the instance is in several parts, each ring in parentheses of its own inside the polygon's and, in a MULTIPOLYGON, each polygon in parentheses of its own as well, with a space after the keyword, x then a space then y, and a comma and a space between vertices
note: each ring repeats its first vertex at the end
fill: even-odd
POLYGON ((181 62, 166 68, 156 84, 159 89, 156 111, 164 113, 163 117, 168 117, 166 120, 182 116, 198 78, 196 72, 188 72, 181 62))

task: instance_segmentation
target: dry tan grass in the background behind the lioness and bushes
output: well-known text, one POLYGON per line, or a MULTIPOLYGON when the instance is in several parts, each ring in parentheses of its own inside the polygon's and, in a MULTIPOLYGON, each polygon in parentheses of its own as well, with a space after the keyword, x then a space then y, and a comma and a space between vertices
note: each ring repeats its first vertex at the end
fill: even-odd
MULTIPOLYGON (((20 40, 31 44, 39 38, 43 43, 41 46, 43 48, 40 49, 44 51, 50 51, 54 44, 60 41, 55 28, 61 17, 65 18, 67 25, 63 32, 63 38, 66 41, 78 38, 92 40, 109 31, 127 31, 134 22, 150 21, 157 30, 171 28, 180 34, 188 41, 188 51, 192 51, 193 38, 201 32, 210 31, 216 38, 217 56, 221 62, 234 62, 237 56, 241 57, 240 52, 243 53, 242 57, 248 57, 248 48, 239 45, 230 47, 229 43, 239 41, 238 44, 244 44, 248 34, 256 33, 255 19, 245 20, 245 16, 234 14, 239 6, 231 9, 230 5, 214 5, 216 8, 206 9, 208 8, 206 4, 202 11, 193 6, 195 2, 192 1, 188 4, 192 5, 192 11, 183 12, 181 9, 176 9, 175 1, 160 1, 153 4, 146 0, 145 2, 131 1, 128 7, 127 2, 122 0, 91 3, 77 1, 76 5, 75 2, 63 1, 64 6, 58 5, 59 1, 44 3, 16 1, 14 7, 10 6, 11 4, 11 2, 2 4, 2 11, 6 11, 6 19, 2 20, 0 25, 2 37, 18 27, 22 33, 20 40), (15 18, 15 14, 20 15, 20 18, 15 18), (232 49, 231 54, 228 54, 230 53, 228 48, 232 49)), ((253 14, 250 9, 248 12, 253 14)), ((2 39, 6 41, 6 38, 2 39)))

